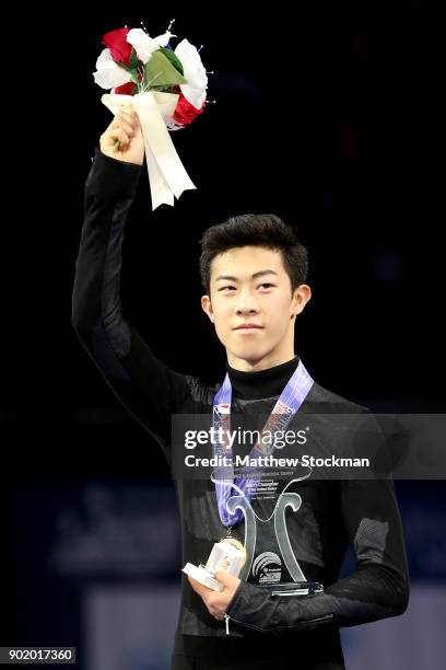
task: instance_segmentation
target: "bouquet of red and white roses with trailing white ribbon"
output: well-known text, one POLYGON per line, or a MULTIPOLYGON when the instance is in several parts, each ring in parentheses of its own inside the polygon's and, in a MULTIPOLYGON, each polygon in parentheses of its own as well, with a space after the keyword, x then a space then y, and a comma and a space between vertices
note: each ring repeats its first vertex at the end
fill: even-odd
POLYGON ((168 131, 178 130, 202 114, 208 77, 199 50, 187 39, 173 49, 173 21, 167 31, 150 37, 145 28, 111 31, 96 61, 95 82, 110 91, 102 102, 116 114, 132 104, 141 124, 152 194, 152 209, 174 204, 190 181, 168 131))

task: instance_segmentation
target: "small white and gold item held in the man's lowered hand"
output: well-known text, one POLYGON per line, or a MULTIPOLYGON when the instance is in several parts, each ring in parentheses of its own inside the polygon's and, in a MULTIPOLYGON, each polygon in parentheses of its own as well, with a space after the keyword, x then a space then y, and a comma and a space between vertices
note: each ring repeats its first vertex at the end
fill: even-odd
POLYGON ((214 591, 222 591, 223 585, 215 579, 215 573, 224 570, 238 577, 246 561, 246 551, 242 542, 235 538, 224 538, 215 542, 206 565, 187 563, 183 568, 186 575, 214 591))

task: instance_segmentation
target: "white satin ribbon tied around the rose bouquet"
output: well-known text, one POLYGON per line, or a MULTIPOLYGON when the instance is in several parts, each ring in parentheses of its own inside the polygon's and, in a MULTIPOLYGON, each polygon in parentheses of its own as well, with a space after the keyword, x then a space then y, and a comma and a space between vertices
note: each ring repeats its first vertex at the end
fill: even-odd
POLYGON ((136 95, 107 93, 102 96, 102 102, 115 115, 129 103, 138 114, 144 139, 152 210, 162 204, 173 206, 174 196, 179 198, 184 190, 197 188, 179 160, 163 119, 174 114, 178 95, 161 91, 136 95))

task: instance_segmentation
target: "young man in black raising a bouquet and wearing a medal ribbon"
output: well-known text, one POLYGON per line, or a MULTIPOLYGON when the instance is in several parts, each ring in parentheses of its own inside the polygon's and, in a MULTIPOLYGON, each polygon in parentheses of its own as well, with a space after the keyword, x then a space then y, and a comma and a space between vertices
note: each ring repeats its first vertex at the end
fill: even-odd
MULTIPOLYGON (((86 182, 73 325, 108 384, 155 436, 169 463, 175 459, 173 414, 206 415, 211 421, 226 407, 257 426, 260 415, 271 418, 273 408, 279 412, 280 401, 291 427, 305 415, 364 412, 313 382, 294 354, 295 319, 310 299, 307 257, 293 231, 272 215, 237 217, 203 235, 207 294, 201 304, 226 349, 223 385, 209 388, 153 355, 119 298, 122 238, 142 163, 138 119, 122 111, 101 137, 86 182)), ((245 541, 248 559, 242 579, 218 573, 221 592, 184 578, 173 669, 341 669, 341 626, 404 611, 407 564, 391 482, 314 480, 298 473, 285 483, 275 480, 268 480, 269 495, 257 497, 243 477, 233 487, 215 477, 176 481, 183 563, 206 562, 230 527, 245 541), (356 569, 339 580, 349 544, 356 569), (324 592, 273 592, 274 582, 303 578, 324 585, 324 592)))

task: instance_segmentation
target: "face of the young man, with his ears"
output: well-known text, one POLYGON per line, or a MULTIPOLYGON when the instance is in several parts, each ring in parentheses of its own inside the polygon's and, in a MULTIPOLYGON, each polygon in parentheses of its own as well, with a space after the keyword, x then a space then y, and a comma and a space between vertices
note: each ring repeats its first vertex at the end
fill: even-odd
POLYGON ((243 246, 219 254, 211 266, 210 292, 201 304, 230 365, 253 366, 262 359, 277 365, 293 356, 295 315, 310 291, 302 285, 292 293, 279 251, 243 246))

